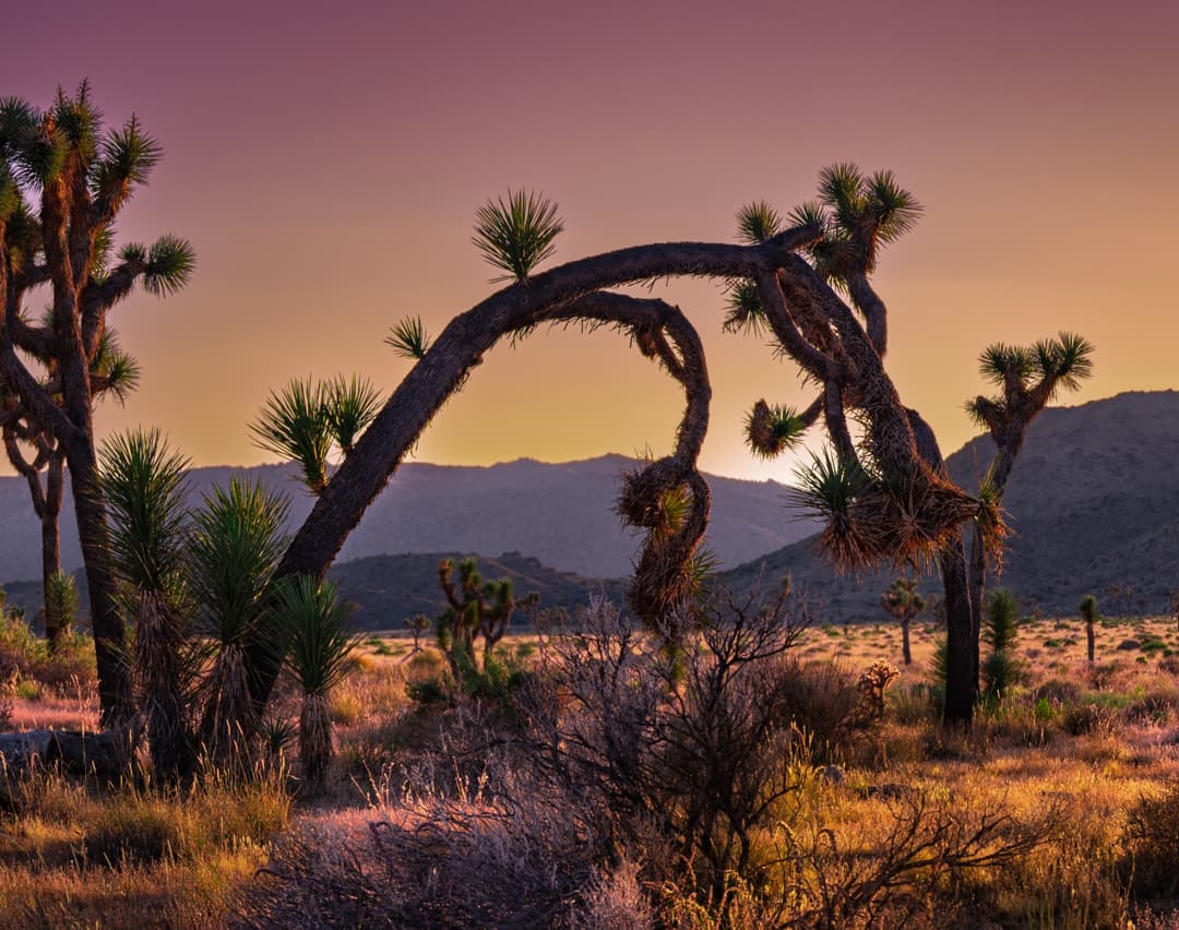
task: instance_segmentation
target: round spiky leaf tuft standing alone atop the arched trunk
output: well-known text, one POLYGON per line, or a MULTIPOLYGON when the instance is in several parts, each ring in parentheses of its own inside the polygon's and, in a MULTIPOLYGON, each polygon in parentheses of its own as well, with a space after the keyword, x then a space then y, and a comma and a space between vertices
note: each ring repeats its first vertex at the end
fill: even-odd
POLYGON ((508 191, 475 211, 475 235, 472 242, 483 258, 505 275, 493 282, 523 282, 533 269, 556 251, 553 240, 565 229, 556 216, 556 204, 544 194, 508 191))

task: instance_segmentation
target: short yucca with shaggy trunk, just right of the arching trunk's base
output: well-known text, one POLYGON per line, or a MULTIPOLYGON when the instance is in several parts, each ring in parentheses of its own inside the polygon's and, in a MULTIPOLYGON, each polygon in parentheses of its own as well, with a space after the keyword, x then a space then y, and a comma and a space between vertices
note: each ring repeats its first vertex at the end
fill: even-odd
POLYGON ((348 628, 353 606, 342 603, 336 586, 302 575, 278 591, 277 608, 288 631, 286 670, 303 691, 298 752, 303 786, 316 791, 331 765, 331 717, 328 695, 353 668, 360 637, 348 628))

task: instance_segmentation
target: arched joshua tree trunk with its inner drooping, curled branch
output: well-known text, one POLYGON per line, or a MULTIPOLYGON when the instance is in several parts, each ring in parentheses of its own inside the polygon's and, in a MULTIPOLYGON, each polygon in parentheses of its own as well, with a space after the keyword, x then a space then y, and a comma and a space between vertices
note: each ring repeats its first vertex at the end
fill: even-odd
MULTIPOLYGON (((718 246, 730 265, 750 265, 750 250, 718 246)), ((660 268, 691 268, 702 262, 707 246, 664 245, 612 253, 632 278, 646 278, 660 268)), ((556 269, 500 291, 474 310, 450 322, 424 357, 406 376, 376 420, 357 441, 340 469, 320 494, 311 514, 297 532, 276 570, 276 578, 303 574, 322 576, 368 504, 380 494, 406 451, 417 441, 442 403, 465 382, 482 354, 512 332, 539 323, 611 324, 625 329, 639 350, 660 364, 685 390, 687 405, 677 430, 671 456, 627 476, 619 510, 647 530, 639 559, 632 603, 644 616, 671 606, 684 591, 684 566, 694 554, 707 525, 711 494, 696 468, 709 423, 712 396, 704 350, 696 330, 674 306, 657 299, 638 299, 604 291, 581 292, 579 281, 612 279, 621 273, 608 257, 578 263, 588 266, 581 276, 556 269), (561 272, 566 273, 561 273, 561 272), (547 303, 546 303, 547 301, 547 303), (686 486, 691 508, 684 523, 667 528, 653 521, 660 495, 686 486)), ((279 660, 265 639, 275 631, 259 631, 248 647, 251 695, 265 704, 278 673, 279 660)))

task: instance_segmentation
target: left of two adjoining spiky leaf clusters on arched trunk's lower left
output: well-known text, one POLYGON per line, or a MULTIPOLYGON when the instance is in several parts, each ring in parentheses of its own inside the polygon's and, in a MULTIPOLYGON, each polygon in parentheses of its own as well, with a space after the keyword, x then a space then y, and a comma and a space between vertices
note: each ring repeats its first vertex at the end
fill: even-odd
POLYGON ((250 424, 259 448, 299 466, 303 483, 312 494, 328 487, 332 438, 328 400, 323 383, 310 377, 291 378, 285 387, 270 393, 258 420, 250 424))

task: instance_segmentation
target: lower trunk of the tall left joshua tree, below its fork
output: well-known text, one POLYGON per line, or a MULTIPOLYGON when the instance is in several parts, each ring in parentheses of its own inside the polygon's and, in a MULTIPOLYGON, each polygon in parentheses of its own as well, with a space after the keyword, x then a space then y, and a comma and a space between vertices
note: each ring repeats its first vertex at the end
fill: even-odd
POLYGON ((114 603, 114 575, 106 547, 106 507, 98 490, 93 444, 72 443, 70 483, 78 537, 90 587, 90 622, 98 665, 99 713, 103 726, 116 726, 131 715, 131 678, 127 668, 123 616, 114 603))

